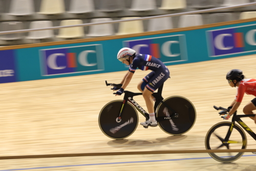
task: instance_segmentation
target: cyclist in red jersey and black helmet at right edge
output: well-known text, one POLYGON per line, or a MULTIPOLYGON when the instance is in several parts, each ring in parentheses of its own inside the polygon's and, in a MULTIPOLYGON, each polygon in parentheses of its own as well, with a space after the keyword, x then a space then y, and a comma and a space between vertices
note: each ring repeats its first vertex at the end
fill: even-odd
MULTIPOLYGON (((256 79, 245 78, 243 71, 231 70, 227 73, 226 79, 228 80, 229 86, 237 87, 237 95, 228 109, 231 109, 228 114, 224 115, 224 119, 229 117, 237 111, 241 104, 244 94, 250 94, 256 96, 256 79)), ((256 98, 252 99, 249 103, 244 106, 243 112, 246 115, 255 114, 252 111, 256 110, 256 98)), ((256 123, 256 117, 250 117, 256 123)))

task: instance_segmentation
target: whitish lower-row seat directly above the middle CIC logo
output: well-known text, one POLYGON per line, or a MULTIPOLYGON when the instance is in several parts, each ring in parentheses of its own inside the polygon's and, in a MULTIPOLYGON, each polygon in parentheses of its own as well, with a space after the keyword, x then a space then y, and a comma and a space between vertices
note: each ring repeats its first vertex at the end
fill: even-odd
POLYGON ((159 31, 173 28, 171 17, 153 18, 150 19, 147 26, 147 31, 159 31))

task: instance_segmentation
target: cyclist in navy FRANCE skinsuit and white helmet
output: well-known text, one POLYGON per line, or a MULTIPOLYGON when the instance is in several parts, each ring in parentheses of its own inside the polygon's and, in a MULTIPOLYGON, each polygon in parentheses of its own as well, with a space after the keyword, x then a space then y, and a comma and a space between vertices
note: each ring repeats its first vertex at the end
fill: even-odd
POLYGON ((113 88, 113 90, 118 90, 116 95, 119 96, 130 83, 137 68, 142 71, 152 70, 150 74, 147 74, 142 81, 139 82, 137 87, 138 90, 142 92, 143 98, 146 102, 148 114, 150 115, 149 120, 141 122, 140 124, 146 127, 157 126, 153 103, 154 97, 152 94, 164 83, 164 81, 168 79, 169 70, 162 61, 154 56, 145 54, 136 55, 136 51, 130 48, 122 48, 117 54, 117 59, 122 63, 125 63, 127 66, 130 65, 129 71, 124 75, 121 81, 122 88, 120 88, 120 90, 116 87, 113 88))

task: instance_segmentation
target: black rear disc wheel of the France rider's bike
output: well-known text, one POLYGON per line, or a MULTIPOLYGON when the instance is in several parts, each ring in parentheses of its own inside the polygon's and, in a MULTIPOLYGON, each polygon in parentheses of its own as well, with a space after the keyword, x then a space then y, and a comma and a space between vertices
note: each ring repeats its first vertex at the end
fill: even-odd
MULTIPOLYGON (((194 105, 186 98, 181 96, 172 96, 163 100, 169 108, 173 109, 178 118, 159 121, 160 128, 171 135, 181 135, 188 132, 196 122, 197 113, 194 105)), ((164 103, 160 103, 157 109, 157 117, 169 117, 173 112, 170 111, 164 103)))

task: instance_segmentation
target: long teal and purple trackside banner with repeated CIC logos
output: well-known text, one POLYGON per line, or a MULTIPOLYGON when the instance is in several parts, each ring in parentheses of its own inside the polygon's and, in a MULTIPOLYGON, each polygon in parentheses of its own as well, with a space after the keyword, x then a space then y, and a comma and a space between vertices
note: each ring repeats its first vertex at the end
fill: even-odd
MULTIPOLYGON (((172 31, 172 30, 170 30, 172 31)), ((256 54, 256 22, 68 45, 0 51, 0 83, 127 71, 129 47, 166 66, 256 54)), ((171 69, 170 69, 171 70, 171 69)))

